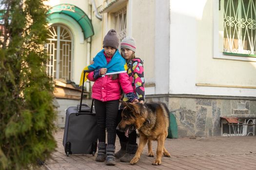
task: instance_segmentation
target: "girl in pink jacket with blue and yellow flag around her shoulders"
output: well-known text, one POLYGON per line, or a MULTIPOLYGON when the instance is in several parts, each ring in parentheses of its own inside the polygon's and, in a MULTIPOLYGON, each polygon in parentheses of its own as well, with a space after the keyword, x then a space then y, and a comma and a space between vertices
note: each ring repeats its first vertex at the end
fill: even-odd
MULTIPOLYGON (((114 66, 119 63, 123 63, 124 65, 122 66, 126 66, 125 60, 117 50, 118 45, 116 31, 110 30, 103 40, 104 50, 100 51, 94 58, 94 65, 102 62, 108 67, 113 65, 113 62, 116 62, 114 66), (97 57, 101 60, 95 60, 97 57)), ((94 81, 92 98, 94 99, 98 125, 98 155, 96 161, 103 162, 106 160, 106 165, 116 165, 114 154, 121 88, 128 96, 129 102, 138 102, 138 100, 126 70, 119 71, 121 73, 118 74, 109 74, 109 70, 110 68, 95 69, 87 75, 87 78, 90 81, 94 81), (107 129, 107 144, 105 144, 105 129, 107 129)))

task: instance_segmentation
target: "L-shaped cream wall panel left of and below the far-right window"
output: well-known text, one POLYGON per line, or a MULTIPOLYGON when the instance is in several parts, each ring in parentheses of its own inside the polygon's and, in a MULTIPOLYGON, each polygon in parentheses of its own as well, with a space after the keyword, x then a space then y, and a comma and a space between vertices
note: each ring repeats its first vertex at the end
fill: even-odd
POLYGON ((213 3, 208 0, 197 20, 197 83, 256 87, 256 62, 213 58, 212 18, 213 3))

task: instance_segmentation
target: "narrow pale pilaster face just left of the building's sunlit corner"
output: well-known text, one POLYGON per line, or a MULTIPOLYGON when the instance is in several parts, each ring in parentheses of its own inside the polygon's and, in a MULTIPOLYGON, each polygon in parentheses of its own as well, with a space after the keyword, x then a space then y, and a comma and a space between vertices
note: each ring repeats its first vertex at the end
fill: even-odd
POLYGON ((156 1, 155 13, 155 94, 167 94, 170 72, 170 0, 156 1))

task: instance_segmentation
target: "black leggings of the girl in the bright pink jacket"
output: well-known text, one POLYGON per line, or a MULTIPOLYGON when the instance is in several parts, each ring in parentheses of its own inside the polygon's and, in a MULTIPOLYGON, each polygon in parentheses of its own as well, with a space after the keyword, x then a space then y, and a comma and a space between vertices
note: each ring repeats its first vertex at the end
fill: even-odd
POLYGON ((107 128, 108 144, 115 145, 119 101, 101 102, 94 100, 94 105, 98 125, 98 141, 106 141, 107 128))

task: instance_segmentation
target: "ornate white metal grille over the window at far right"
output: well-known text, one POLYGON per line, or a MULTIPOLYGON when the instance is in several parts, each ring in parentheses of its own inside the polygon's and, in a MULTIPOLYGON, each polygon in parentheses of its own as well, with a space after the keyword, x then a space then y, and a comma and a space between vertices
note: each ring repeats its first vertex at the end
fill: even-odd
POLYGON ((256 55, 255 0, 224 0, 224 53, 256 55))

